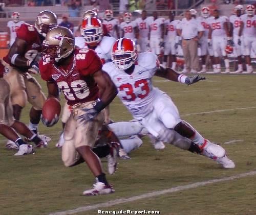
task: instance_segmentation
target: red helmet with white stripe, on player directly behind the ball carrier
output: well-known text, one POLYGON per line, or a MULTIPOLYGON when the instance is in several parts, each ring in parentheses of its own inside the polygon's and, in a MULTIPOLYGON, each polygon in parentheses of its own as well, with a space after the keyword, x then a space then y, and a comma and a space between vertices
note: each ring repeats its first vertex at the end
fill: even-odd
POLYGON ((99 42, 103 34, 102 23, 96 17, 83 19, 80 32, 87 43, 99 42))

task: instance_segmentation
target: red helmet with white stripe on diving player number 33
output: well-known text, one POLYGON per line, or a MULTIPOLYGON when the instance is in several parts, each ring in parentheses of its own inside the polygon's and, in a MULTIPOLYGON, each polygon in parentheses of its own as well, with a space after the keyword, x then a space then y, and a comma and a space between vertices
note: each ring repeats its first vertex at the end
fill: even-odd
POLYGON ((117 69, 127 69, 137 60, 135 42, 129 38, 118 39, 112 49, 111 60, 117 69))

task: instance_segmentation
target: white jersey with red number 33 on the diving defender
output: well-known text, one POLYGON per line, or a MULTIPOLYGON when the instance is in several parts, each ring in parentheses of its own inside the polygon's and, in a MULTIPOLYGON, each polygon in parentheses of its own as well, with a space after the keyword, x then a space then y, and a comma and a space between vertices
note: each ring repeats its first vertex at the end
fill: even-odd
POLYGON ((158 66, 157 56, 144 52, 138 55, 137 64, 131 75, 117 69, 113 62, 106 63, 102 67, 117 87, 117 96, 137 120, 149 114, 154 101, 164 93, 152 85, 152 77, 158 66))

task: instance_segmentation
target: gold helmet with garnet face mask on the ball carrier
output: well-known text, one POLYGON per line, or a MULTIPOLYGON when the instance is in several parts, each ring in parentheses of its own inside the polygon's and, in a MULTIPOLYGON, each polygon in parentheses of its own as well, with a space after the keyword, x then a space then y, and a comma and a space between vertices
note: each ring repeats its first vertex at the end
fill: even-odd
POLYGON ((75 49, 75 38, 68 28, 55 27, 51 29, 42 42, 42 60, 44 62, 58 62, 66 58, 75 49))

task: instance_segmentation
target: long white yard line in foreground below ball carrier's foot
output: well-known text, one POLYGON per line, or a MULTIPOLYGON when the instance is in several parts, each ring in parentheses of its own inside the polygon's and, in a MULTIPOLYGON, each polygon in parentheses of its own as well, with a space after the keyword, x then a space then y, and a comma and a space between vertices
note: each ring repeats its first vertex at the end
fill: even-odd
MULTIPOLYGON (((74 214, 74 213, 84 212, 84 211, 88 211, 88 210, 94 210, 94 209, 98 209, 98 208, 111 207, 111 206, 117 205, 117 204, 122 204, 122 203, 127 203, 127 202, 134 202, 134 201, 145 199, 145 198, 157 197, 157 196, 161 196, 161 195, 165 195, 165 194, 179 192, 181 190, 196 188, 196 187, 205 186, 205 185, 208 185, 208 184, 220 183, 220 182, 224 182, 224 181, 231 181, 231 180, 234 180, 234 179, 239 179, 239 178, 244 178, 244 177, 247 177, 247 176, 254 176, 254 175, 256 175, 256 171, 251 171, 251 172, 248 172, 248 173, 241 173, 239 175, 234 175, 234 176, 230 176, 230 177, 224 177, 224 178, 220 178, 220 179, 201 181, 201 182, 196 182, 196 183, 187 184, 187 185, 183 185, 183 186, 176 186, 176 187, 163 189, 163 190, 159 190, 159 191, 155 191, 155 192, 151 192, 151 193, 145 193, 145 194, 142 194, 142 195, 139 195, 139 196, 116 199, 116 200, 112 200, 112 201, 108 201, 108 202, 104 202, 104 203, 99 203, 99 204, 94 204, 94 205, 82 206, 82 207, 78 207, 78 208, 72 209, 72 210, 53 212, 53 213, 50 213, 50 215, 74 214)), ((86 198, 90 198, 90 197, 84 197, 84 198, 85 198, 85 201, 86 201, 86 198)))

